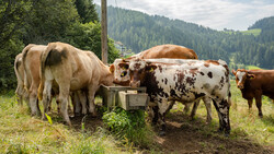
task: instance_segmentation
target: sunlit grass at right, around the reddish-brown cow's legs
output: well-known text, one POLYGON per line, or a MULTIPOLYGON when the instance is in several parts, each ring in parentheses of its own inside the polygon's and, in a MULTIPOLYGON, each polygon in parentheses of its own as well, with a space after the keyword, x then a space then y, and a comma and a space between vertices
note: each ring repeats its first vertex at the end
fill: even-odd
MULTIPOLYGON (((253 140, 255 143, 261 145, 274 145, 274 103, 265 96, 262 99, 262 111, 264 117, 261 119, 258 116, 258 108, 255 100, 253 100, 252 109, 249 110, 248 102, 242 98, 240 90, 237 88, 236 82, 231 81, 231 100, 229 118, 231 126, 231 139, 235 140, 253 140)), ((183 110, 183 105, 178 104, 176 107, 171 109, 171 112, 183 110)), ((213 110, 213 122, 199 131, 210 135, 217 135, 214 132, 218 128, 218 116, 217 111, 212 106, 213 110)), ((202 122, 206 120, 206 108, 201 103, 195 117, 202 117, 202 122)), ((201 120, 201 119, 199 119, 201 120)))

